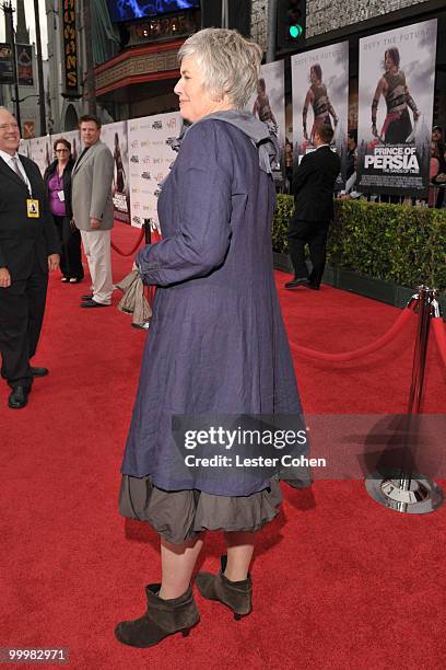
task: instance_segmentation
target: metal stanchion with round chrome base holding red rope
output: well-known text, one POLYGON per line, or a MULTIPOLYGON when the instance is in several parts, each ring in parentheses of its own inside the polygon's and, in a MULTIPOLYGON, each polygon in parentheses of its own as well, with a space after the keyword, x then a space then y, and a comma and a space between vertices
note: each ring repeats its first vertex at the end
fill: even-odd
POLYGON ((401 469, 386 473, 384 478, 379 473, 374 473, 365 482, 368 494, 375 500, 403 513, 424 515, 434 511, 443 505, 444 499, 443 490, 435 482, 411 470, 411 449, 419 441, 416 417, 423 394, 431 317, 441 315, 437 293, 436 289, 420 286, 410 302, 419 319, 401 469))

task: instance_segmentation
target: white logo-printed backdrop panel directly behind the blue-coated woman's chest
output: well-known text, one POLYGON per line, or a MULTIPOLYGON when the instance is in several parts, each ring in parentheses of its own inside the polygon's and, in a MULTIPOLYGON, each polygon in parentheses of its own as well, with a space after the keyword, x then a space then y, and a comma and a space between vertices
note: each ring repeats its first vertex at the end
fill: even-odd
POLYGON ((151 228, 160 231, 157 198, 175 162, 177 153, 172 145, 181 126, 178 112, 128 122, 132 226, 141 228, 149 220, 151 228))

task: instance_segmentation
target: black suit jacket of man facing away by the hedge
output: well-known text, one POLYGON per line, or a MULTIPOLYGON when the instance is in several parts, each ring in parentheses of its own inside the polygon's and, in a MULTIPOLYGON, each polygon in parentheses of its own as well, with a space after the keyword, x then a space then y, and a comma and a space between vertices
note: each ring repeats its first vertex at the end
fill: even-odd
POLYGON ((333 188, 341 160, 329 147, 306 153, 293 174, 294 218, 302 221, 331 221, 333 188))

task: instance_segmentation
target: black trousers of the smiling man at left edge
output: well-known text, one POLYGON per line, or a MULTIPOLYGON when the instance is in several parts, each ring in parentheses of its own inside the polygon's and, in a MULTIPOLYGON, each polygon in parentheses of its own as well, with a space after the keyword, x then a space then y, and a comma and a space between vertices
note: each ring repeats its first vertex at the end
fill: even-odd
POLYGON ((9 385, 31 388, 30 359, 37 349, 44 320, 48 275, 35 265, 27 279, 0 288, 1 376, 9 385))

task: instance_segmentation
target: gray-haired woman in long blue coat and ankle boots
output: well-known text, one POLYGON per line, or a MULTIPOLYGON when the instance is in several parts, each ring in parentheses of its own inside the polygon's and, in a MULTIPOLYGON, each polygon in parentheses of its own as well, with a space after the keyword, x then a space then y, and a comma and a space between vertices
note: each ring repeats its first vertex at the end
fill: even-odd
POLYGON ((230 451, 216 438, 227 417, 239 427, 246 415, 301 414, 272 267, 272 145, 243 111, 260 47, 207 28, 178 58, 175 93, 191 126, 160 195, 163 240, 137 256, 157 289, 119 505, 161 535, 162 581, 146 587, 146 613, 116 628, 136 647, 198 623, 190 582, 206 530, 225 532, 227 556, 218 575, 198 575, 201 596, 235 619, 250 613, 255 536, 279 512, 279 473, 236 466, 242 446, 230 451))

